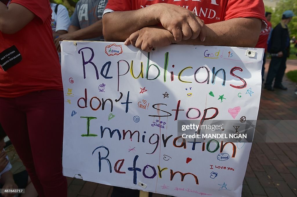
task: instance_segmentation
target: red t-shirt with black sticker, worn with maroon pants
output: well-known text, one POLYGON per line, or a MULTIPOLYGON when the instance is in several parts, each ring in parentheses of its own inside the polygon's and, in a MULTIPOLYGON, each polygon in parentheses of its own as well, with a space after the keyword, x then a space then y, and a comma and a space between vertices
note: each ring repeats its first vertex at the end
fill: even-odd
POLYGON ((18 97, 37 90, 63 90, 61 66, 50 27, 52 9, 48 0, 12 0, 35 14, 15 34, 0 31, 0 53, 12 47, 22 60, 4 72, 0 67, 0 97, 18 97))

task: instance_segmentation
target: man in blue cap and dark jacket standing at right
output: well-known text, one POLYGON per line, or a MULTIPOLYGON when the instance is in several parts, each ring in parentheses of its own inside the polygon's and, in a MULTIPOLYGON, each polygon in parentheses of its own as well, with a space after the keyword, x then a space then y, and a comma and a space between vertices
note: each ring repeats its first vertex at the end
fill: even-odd
POLYGON ((293 16, 295 15, 291 10, 286 10, 282 14, 281 22, 272 30, 271 40, 268 44, 268 52, 271 53, 271 62, 264 87, 266 90, 274 91, 274 88, 281 90, 288 89, 282 85, 282 78, 286 70, 287 57, 290 55, 290 37, 287 24, 290 23, 293 16), (274 78, 274 87, 272 87, 274 78))

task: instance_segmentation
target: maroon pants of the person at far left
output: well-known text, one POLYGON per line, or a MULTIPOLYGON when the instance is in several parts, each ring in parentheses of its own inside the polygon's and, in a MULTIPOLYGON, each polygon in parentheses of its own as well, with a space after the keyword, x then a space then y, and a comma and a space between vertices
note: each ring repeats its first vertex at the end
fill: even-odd
POLYGON ((61 162, 63 119, 62 91, 0 97, 0 123, 40 197, 67 196, 61 162))

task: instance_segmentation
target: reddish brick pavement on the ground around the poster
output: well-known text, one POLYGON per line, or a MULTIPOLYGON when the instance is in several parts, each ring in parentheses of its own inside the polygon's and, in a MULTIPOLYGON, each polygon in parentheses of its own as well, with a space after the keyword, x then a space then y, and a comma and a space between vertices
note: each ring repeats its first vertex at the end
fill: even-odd
MULTIPOLYGON (((269 60, 266 63, 268 68, 269 60)), ((296 70, 297 60, 287 61, 287 70, 296 70)), ((266 69, 267 72, 267 69, 266 69)), ((287 91, 262 90, 258 120, 297 120, 296 84, 284 77, 287 91)), ((297 132, 297 125, 285 125, 297 132)), ((7 148, 12 173, 24 166, 12 146, 7 148)), ((68 197, 110 197, 112 187, 67 177, 68 197)), ((297 196, 297 143, 253 143, 243 181, 242 197, 297 196)), ((165 197, 154 194, 153 197, 165 197)))

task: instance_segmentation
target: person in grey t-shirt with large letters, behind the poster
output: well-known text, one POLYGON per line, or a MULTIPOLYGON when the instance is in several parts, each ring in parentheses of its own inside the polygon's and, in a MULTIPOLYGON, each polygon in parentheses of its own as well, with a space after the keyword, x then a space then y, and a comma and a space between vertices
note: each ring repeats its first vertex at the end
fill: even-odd
POLYGON ((102 15, 108 0, 80 0, 72 15, 68 34, 55 39, 55 45, 60 51, 60 41, 89 40, 104 41, 102 34, 102 15))

